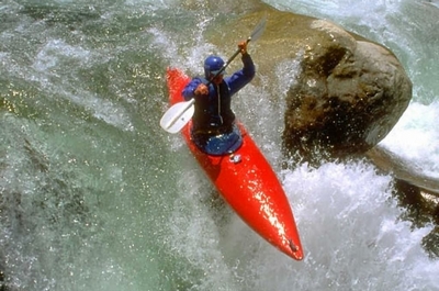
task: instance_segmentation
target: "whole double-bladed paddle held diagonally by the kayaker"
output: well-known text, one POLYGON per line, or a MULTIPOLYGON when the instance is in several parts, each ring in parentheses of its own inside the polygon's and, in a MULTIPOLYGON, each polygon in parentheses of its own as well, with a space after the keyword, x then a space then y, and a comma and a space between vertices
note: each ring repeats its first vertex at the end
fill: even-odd
MULTIPOLYGON (((267 16, 263 16, 263 19, 256 25, 254 32, 251 35, 247 38, 247 44, 250 41, 256 41, 258 40, 264 27, 266 27, 266 22, 267 22, 267 16)), ((232 60, 235 59, 235 57, 239 54, 240 49, 238 48, 235 54, 227 59, 227 61, 224 64, 224 66, 221 68, 218 72, 215 74, 214 77, 211 78, 211 80, 207 82, 207 86, 211 85, 212 80, 215 79, 219 74, 222 74, 226 67, 232 63, 232 60)), ((160 126, 168 133, 178 133, 181 131, 181 128, 184 127, 185 124, 191 120, 195 109, 193 103, 195 103, 195 99, 191 99, 189 101, 184 102, 179 102, 177 104, 173 104, 170 109, 168 109, 167 112, 161 116, 160 119, 160 126)))

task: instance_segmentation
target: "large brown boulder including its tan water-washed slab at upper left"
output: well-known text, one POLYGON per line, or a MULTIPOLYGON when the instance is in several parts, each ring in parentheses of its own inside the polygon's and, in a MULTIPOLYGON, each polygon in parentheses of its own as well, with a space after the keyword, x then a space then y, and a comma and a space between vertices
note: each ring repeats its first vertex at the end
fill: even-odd
MULTIPOLYGON (((324 150, 339 158, 382 141, 412 99, 412 82, 395 55, 331 22, 268 7, 232 23, 227 34, 248 34, 263 14, 266 32, 251 44, 258 71, 279 86, 279 65, 296 64, 282 72, 291 80, 282 81, 289 88, 277 97, 286 103, 286 152, 312 157, 324 150)), ((217 43, 228 43, 223 37, 217 43)))

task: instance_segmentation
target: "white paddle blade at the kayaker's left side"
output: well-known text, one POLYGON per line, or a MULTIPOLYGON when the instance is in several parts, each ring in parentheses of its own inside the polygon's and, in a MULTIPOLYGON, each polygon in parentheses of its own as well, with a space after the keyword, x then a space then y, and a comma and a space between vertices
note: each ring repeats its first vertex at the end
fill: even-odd
POLYGON ((160 126, 168 133, 178 133, 188 124, 194 111, 192 101, 177 103, 161 116, 160 126))

